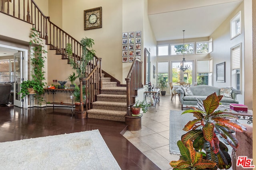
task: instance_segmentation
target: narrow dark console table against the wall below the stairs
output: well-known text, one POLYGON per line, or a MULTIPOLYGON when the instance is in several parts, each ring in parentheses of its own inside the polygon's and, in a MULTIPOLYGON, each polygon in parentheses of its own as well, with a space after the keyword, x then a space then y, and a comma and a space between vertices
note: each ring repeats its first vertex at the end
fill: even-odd
MULTIPOLYGON (((55 103, 54 102, 54 94, 56 93, 69 93, 69 95, 71 96, 73 93, 74 93, 74 89, 52 89, 52 88, 44 88, 44 93, 51 93, 52 94, 52 98, 53 98, 53 102, 50 103, 52 104, 53 108, 54 108, 54 104, 60 104, 60 103, 55 103)), ((72 97, 72 104, 68 104, 68 103, 63 103, 61 105, 64 105, 64 106, 72 106, 72 112, 74 111, 73 109, 73 106, 74 106, 74 99, 72 97)))

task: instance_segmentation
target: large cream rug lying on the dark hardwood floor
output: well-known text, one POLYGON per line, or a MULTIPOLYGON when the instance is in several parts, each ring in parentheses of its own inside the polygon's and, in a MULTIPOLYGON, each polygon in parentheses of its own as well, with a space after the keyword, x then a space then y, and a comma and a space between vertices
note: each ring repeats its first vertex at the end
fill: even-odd
POLYGON ((120 170, 98 130, 0 143, 0 169, 120 170))

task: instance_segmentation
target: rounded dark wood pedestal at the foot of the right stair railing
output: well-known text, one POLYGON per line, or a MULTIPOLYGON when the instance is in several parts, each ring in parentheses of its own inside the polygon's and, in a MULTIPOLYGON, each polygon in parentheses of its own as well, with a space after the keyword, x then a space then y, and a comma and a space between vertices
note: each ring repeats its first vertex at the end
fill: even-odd
POLYGON ((142 113, 140 113, 140 116, 125 116, 125 124, 128 125, 127 130, 128 131, 138 131, 141 129, 141 117, 142 113))

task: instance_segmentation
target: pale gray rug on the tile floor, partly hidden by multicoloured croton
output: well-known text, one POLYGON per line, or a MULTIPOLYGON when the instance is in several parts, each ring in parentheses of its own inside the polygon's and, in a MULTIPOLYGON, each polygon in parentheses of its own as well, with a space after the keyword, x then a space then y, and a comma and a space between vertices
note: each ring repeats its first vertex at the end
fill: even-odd
POLYGON ((195 119, 192 113, 186 113, 181 115, 183 110, 170 110, 170 153, 180 154, 180 150, 177 146, 177 142, 181 139, 181 136, 186 133, 182 129, 188 123, 188 121, 195 119))

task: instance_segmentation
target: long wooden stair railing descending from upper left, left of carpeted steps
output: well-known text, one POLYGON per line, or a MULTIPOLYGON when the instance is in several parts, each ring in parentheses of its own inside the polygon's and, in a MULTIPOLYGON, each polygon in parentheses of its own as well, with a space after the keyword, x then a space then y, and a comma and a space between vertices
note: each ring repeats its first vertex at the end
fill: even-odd
MULTIPOLYGON (((34 0, 12 0, 12 2, 10 2, 10 0, 0 0, 0 12, 31 23, 34 29, 40 33, 40 38, 45 39, 46 45, 50 45, 50 49, 56 49, 56 54, 62 55, 62 59, 68 59, 66 44, 70 43, 73 52, 72 58, 75 62, 80 60, 80 56, 82 55, 82 46, 80 42, 52 23, 50 17, 43 14, 34 0)), ((88 92, 92 91, 92 93, 88 93, 90 102, 94 102, 95 94, 98 94, 98 90, 102 88, 102 82, 100 81, 102 73, 101 59, 94 55, 94 58, 86 65, 86 71, 90 73, 89 76, 85 78, 87 84, 89 82, 94 82, 94 78, 100 73, 100 78, 95 79, 98 80, 98 82, 92 83, 97 92, 92 90, 92 88, 89 88, 89 86, 87 89, 88 92)))

